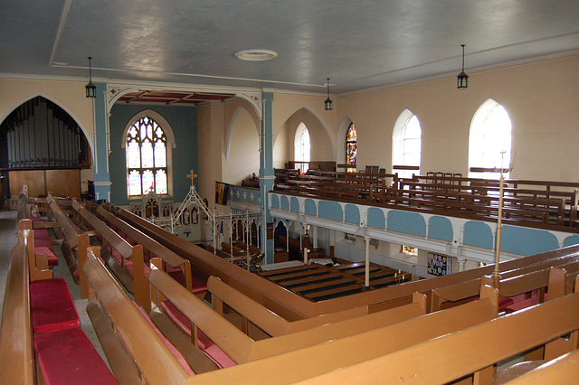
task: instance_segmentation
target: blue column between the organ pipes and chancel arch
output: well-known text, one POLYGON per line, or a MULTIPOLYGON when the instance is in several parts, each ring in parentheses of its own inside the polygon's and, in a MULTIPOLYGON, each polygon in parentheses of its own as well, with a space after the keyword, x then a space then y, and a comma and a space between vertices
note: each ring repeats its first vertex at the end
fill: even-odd
POLYGON ((105 83, 95 83, 97 97, 93 99, 94 117, 94 191, 95 199, 106 199, 110 202, 109 174, 109 111, 107 111, 105 83))

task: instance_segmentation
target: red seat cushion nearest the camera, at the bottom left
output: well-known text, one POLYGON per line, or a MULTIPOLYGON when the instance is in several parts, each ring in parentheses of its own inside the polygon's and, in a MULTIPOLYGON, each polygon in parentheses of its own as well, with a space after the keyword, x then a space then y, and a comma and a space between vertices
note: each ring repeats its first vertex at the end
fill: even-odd
POLYGON ((118 384, 80 327, 34 336, 47 384, 118 384))

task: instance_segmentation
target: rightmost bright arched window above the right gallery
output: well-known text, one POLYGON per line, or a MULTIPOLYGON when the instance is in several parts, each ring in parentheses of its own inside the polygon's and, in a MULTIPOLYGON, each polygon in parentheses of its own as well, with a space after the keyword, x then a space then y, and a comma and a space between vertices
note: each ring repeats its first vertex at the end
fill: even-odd
MULTIPOLYGON (((499 173, 470 173, 470 167, 508 168, 510 164, 511 123, 508 112, 497 101, 488 99, 470 123, 469 176, 499 179, 499 173)), ((505 178, 508 178, 505 174, 505 178)))

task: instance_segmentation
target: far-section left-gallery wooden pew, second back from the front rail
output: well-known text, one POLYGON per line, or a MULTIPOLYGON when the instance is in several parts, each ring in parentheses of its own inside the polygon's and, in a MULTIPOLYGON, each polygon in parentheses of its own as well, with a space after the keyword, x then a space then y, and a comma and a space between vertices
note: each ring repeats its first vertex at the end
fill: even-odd
MULTIPOLYGON (((148 267, 146 267, 144 261, 143 246, 131 246, 103 221, 100 221, 92 212, 82 207, 80 203, 73 201, 72 208, 78 212, 82 221, 85 221, 87 225, 90 226, 90 230, 95 230, 99 234, 103 248, 110 248, 109 254, 114 261, 110 259, 108 265, 113 271, 116 269, 116 259, 113 257, 114 252, 119 253, 122 262, 122 265, 118 264, 117 266, 120 265, 124 269, 125 261, 132 263, 132 276, 130 276, 132 277, 132 282, 123 279, 123 276, 119 277, 119 280, 123 283, 123 286, 127 287, 128 291, 133 292, 135 302, 137 302, 139 306, 142 306, 148 313, 150 311, 151 300, 146 277, 146 269, 148 271, 148 267), (131 283, 132 287, 130 286, 131 283)), ((115 273, 119 274, 119 270, 117 269, 115 273)))

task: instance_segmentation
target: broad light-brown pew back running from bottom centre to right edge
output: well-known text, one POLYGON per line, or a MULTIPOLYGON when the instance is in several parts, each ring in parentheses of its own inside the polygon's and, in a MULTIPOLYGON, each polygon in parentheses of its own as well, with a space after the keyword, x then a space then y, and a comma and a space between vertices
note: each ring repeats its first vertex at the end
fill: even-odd
MULTIPOLYGON (((373 379, 384 383, 447 383, 578 329, 579 293, 575 293, 374 360, 313 377, 304 383, 334 383, 336 380, 359 383, 373 379)), ((490 383, 491 379, 480 376, 475 380, 490 383)))

